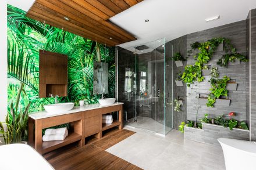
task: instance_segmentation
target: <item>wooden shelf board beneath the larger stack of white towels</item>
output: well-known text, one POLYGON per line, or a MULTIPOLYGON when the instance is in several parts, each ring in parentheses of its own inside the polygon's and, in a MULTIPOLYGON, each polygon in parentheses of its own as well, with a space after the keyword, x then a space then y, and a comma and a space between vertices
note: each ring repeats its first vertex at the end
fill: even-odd
POLYGON ((64 140, 54 140, 42 142, 42 153, 47 153, 48 151, 58 149, 59 147, 65 146, 67 144, 77 142, 82 139, 82 136, 77 133, 70 133, 64 140))

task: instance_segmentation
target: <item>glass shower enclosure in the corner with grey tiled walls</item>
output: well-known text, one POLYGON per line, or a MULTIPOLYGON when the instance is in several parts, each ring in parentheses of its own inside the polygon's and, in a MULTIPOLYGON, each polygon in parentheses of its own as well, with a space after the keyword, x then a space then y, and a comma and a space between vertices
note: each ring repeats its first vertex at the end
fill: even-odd
MULTIPOLYGON (((172 129, 172 63, 165 39, 118 49, 118 102, 125 125, 166 135, 172 129)), ((168 48, 172 48, 169 46, 168 48)))

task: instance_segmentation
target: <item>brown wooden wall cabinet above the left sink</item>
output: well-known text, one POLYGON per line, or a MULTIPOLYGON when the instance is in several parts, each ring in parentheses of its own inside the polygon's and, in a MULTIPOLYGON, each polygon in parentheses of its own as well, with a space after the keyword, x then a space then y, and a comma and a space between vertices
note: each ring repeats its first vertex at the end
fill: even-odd
POLYGON ((67 96, 67 55, 39 51, 39 97, 67 96))

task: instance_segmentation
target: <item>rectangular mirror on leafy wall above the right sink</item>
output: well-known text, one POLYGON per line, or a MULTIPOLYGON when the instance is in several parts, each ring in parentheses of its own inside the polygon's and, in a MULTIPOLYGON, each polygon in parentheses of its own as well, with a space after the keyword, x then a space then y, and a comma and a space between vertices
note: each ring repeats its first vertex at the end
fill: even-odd
POLYGON ((93 63, 93 94, 108 93, 108 63, 93 63))

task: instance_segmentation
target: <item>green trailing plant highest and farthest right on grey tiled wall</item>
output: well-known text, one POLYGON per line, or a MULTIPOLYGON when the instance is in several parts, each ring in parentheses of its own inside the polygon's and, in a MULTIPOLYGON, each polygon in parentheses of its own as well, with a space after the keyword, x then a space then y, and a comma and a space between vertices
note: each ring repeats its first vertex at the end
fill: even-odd
POLYGON ((246 56, 237 53, 236 48, 230 44, 230 39, 224 38, 223 42, 223 49, 225 50, 226 54, 218 60, 217 64, 219 66, 227 67, 229 62, 234 62, 236 59, 240 60, 241 62, 248 62, 246 56))

